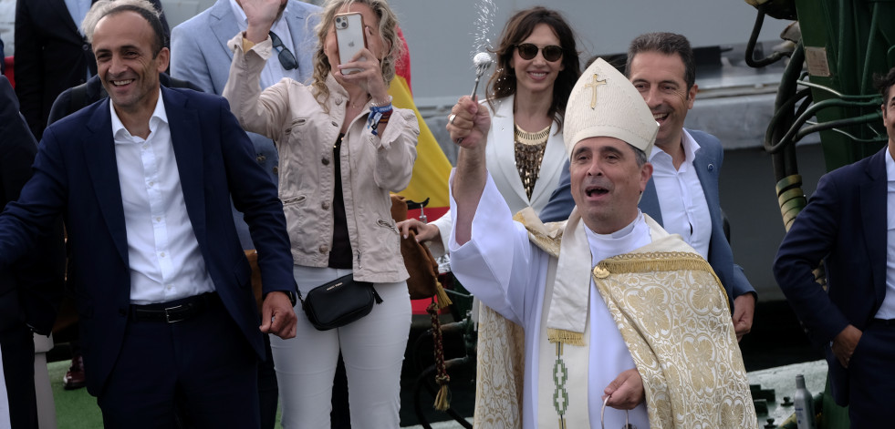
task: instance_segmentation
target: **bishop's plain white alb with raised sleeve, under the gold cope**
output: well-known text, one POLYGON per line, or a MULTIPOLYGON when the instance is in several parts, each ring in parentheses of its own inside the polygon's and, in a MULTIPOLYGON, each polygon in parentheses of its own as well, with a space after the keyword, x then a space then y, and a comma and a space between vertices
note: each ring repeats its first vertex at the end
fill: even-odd
MULTIPOLYGON (((453 197, 451 203, 451 216, 455 221, 453 197)), ((542 315, 546 317, 541 303, 544 301, 543 283, 549 255, 529 243, 526 228, 512 221, 512 214, 503 203, 490 176, 479 206, 488 209, 476 211, 473 240, 458 246, 453 234, 451 236, 449 246, 452 265, 465 267, 463 271, 455 270, 454 274, 463 283, 463 287, 484 304, 525 329, 525 415, 522 427, 534 429, 537 427, 538 327, 542 315), (477 230, 487 230, 490 233, 486 237, 479 237, 475 233, 477 230), (467 275, 472 273, 477 276, 467 275), (499 284, 500 288, 494 288, 494 284, 499 284)), ((588 234, 594 265, 599 260, 637 249, 650 242, 650 230, 641 214, 616 235, 617 237, 588 234), (595 244, 599 249, 595 249, 595 244)), ((588 402, 592 405, 589 407, 590 426, 600 427, 600 397, 603 389, 619 373, 634 368, 634 362, 606 304, 594 285, 591 284, 590 287, 590 320, 595 321, 595 325, 590 329, 588 341, 591 347, 589 371, 588 374, 570 376, 588 378, 588 402)), ((606 427, 621 427, 626 416, 624 411, 607 408, 605 418, 606 427)), ((642 403, 630 412, 630 423, 638 429, 650 427, 646 407, 642 403)))

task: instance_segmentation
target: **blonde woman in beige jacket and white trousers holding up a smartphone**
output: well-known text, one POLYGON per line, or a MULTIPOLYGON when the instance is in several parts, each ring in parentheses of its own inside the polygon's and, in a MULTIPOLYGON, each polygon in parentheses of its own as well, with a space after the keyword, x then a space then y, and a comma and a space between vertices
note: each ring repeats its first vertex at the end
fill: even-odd
POLYGON ((397 19, 384 0, 329 0, 317 26, 313 81, 283 79, 261 92, 265 61, 284 55, 268 36, 280 3, 241 1, 248 27, 229 43, 234 59, 224 97, 247 131, 276 142, 279 197, 302 295, 353 273, 355 281, 372 282, 382 299, 367 316, 328 331, 317 331, 296 307, 296 338, 271 339, 282 424, 330 426, 341 351, 351 427, 397 428, 411 303, 389 192, 410 182, 419 134, 413 112, 391 107, 387 92, 400 53, 397 19), (357 15, 339 15, 351 13, 360 15, 362 28, 357 15), (351 35, 354 29, 361 31, 351 35), (366 47, 340 56, 339 37, 343 44, 345 37, 365 38, 366 47))

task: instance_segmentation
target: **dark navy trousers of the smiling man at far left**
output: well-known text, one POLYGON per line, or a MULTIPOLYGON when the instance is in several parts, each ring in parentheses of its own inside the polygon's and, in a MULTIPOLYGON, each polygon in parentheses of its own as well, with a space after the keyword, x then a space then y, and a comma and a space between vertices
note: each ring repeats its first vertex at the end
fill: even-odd
POLYGON ((213 301, 182 322, 129 321, 99 394, 107 428, 258 428, 257 354, 213 301))

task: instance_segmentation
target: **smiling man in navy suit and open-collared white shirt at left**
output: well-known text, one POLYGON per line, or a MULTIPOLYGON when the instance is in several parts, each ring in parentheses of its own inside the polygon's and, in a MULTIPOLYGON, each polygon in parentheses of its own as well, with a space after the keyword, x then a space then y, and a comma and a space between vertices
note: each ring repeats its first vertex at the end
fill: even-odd
POLYGON ((106 427, 258 427, 262 332, 295 335, 283 208, 226 100, 159 85, 168 66, 146 0, 85 18, 109 98, 47 128, 34 177, 0 216, 9 266, 57 214, 68 231, 88 392, 106 427), (262 324, 230 212, 258 250, 262 324))

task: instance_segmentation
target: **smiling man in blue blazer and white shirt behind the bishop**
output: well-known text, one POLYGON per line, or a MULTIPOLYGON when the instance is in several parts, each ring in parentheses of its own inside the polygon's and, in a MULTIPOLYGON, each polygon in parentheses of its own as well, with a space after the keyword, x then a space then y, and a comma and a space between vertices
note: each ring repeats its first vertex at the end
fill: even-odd
MULTIPOLYGON (((733 301, 734 328, 740 340, 752 329, 757 294, 743 269, 734 264, 723 230, 718 196, 721 142, 702 131, 683 128, 698 89, 690 42, 672 33, 638 36, 628 49, 626 74, 659 122, 650 154, 653 174, 640 197, 640 211, 665 230, 681 234, 709 261, 733 301)), ((568 218, 575 205, 569 187, 568 169, 564 169, 541 220, 568 218)))

